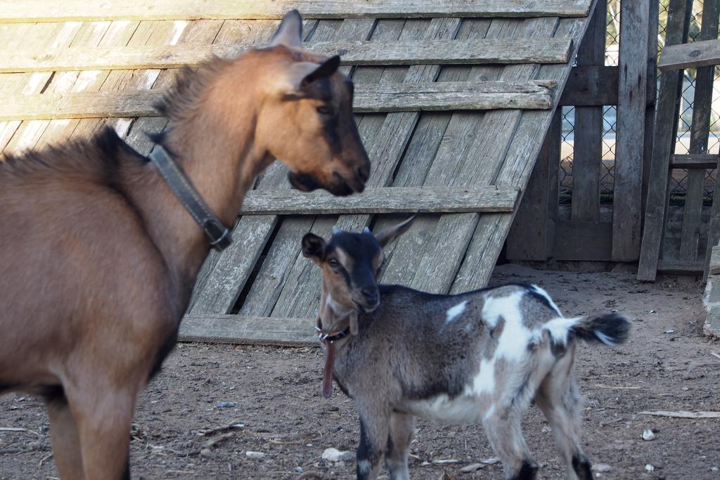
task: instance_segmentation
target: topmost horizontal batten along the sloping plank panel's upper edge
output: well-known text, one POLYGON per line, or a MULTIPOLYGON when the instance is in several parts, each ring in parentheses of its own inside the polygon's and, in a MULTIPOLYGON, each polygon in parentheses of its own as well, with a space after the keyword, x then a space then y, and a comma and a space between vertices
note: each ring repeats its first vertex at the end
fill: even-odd
POLYGON ((0 0, 0 23, 92 20, 306 18, 584 17, 590 0, 0 0))

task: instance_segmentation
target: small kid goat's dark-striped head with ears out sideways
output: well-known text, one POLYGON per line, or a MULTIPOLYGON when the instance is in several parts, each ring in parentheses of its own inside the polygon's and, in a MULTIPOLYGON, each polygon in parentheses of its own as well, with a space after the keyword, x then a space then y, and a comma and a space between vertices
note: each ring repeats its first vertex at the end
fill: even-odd
MULTIPOLYGON (((320 318, 333 325, 336 320, 372 312, 380 303, 377 274, 384 261, 382 251, 413 225, 415 217, 373 235, 336 230, 329 242, 313 233, 302 237, 302 255, 323 270, 323 297, 320 318)), ((351 322, 351 331, 357 325, 351 322)))

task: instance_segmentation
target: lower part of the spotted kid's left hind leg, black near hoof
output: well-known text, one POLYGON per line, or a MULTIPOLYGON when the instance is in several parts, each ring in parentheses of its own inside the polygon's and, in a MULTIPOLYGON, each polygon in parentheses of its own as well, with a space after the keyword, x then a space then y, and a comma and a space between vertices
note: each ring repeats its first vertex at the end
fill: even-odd
POLYGON ((482 420, 482 427, 493 450, 503 461, 505 478, 534 480, 538 467, 525 443, 520 422, 521 411, 516 407, 498 407, 482 420))

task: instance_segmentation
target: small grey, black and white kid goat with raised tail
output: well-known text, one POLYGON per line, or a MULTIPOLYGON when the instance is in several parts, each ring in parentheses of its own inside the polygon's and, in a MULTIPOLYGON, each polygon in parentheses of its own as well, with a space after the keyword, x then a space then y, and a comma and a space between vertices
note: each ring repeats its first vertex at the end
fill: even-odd
POLYGON ((592 479, 580 442, 575 344, 618 345, 630 322, 618 314, 564 318, 534 285, 451 296, 377 285, 382 248, 412 221, 377 235, 366 229, 333 232, 328 243, 310 233, 302 239, 303 254, 323 270, 324 393, 332 375, 359 410, 358 479, 376 479, 383 456, 392 480, 409 479, 415 415, 482 423, 505 477, 534 479, 538 467, 521 432, 533 400, 552 426, 569 478, 592 479))

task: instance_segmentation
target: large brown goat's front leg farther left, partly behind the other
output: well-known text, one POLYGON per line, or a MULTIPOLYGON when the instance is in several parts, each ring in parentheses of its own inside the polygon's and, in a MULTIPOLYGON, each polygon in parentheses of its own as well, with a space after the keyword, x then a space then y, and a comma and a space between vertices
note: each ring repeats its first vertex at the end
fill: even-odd
POLYGON ((50 443, 61 479, 83 479, 80 437, 65 395, 46 397, 45 408, 50 420, 50 443))

